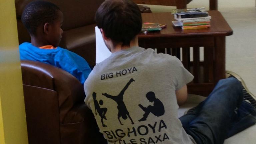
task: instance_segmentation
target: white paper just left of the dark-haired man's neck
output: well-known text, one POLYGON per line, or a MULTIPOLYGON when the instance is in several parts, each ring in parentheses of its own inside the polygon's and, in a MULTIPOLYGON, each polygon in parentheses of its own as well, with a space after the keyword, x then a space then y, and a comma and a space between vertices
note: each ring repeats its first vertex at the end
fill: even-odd
POLYGON ((100 29, 95 27, 95 36, 96 36, 96 65, 108 58, 111 55, 111 52, 108 50, 107 46, 104 43, 100 29))

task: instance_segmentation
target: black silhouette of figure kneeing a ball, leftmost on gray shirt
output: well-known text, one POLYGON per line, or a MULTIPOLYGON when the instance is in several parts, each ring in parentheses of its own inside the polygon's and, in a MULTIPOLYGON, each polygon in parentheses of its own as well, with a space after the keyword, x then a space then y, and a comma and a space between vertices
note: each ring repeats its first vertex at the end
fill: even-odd
POLYGON ((106 127, 106 125, 103 123, 103 119, 107 120, 105 114, 106 114, 108 109, 107 108, 100 108, 100 105, 103 105, 103 100, 99 101, 99 103, 100 103, 100 105, 99 105, 98 101, 96 100, 96 93, 95 92, 92 93, 92 97, 93 97, 93 102, 94 102, 94 107, 95 107, 95 115, 97 115, 97 112, 99 113, 99 115, 101 117, 102 126, 106 127))

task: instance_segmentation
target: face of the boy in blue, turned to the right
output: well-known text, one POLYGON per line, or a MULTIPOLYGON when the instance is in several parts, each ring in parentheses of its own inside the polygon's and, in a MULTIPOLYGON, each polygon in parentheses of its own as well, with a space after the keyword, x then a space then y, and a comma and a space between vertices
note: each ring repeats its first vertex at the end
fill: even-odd
POLYGON ((63 30, 61 29, 63 23, 63 14, 58 11, 58 19, 56 19, 49 27, 48 42, 53 47, 58 47, 62 38, 63 30))

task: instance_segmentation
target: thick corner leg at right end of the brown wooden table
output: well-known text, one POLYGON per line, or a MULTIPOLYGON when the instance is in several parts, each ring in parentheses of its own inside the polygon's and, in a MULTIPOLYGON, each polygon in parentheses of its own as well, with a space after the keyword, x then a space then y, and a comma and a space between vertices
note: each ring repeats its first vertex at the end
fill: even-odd
POLYGON ((225 78, 226 71, 226 38, 215 37, 215 64, 214 64, 214 82, 225 78))

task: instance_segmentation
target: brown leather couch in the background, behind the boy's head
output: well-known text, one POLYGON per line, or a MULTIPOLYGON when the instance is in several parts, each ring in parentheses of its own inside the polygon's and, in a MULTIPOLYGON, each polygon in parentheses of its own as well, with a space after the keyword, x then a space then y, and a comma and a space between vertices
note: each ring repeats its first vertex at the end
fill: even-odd
MULTIPOLYGON (((25 6, 33 0, 15 0, 19 44, 30 42, 30 36, 21 22, 25 6)), ((82 56, 91 66, 95 65, 96 10, 104 0, 46 0, 56 4, 64 15, 63 38, 60 47, 82 56), (90 52, 90 53, 88 53, 90 52)), ((151 12, 149 7, 139 5, 141 12, 151 12)))

